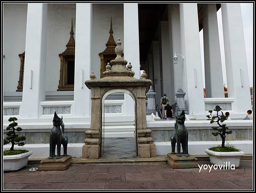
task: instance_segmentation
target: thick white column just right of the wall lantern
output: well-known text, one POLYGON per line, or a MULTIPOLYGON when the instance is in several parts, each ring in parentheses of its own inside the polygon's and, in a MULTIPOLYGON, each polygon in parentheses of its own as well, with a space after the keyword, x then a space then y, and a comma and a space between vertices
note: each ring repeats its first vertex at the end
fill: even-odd
POLYGON ((199 42, 198 9, 196 3, 180 4, 181 52, 184 64, 184 88, 188 97, 188 112, 205 114, 203 75, 199 42))

